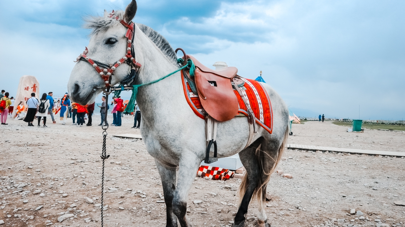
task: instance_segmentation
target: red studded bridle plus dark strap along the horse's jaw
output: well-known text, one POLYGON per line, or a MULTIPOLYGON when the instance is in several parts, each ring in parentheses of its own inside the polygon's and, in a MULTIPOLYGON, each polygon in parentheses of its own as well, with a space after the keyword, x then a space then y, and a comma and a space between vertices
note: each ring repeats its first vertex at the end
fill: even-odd
POLYGON ((141 68, 141 64, 135 61, 135 53, 134 53, 134 36, 135 36, 135 29, 134 29, 134 22, 131 22, 130 24, 126 23, 123 19, 118 18, 117 16, 114 16, 114 11, 109 14, 110 18, 116 19, 119 23, 124 25, 127 29, 125 33, 125 37, 128 38, 128 46, 127 46, 127 53, 122 59, 119 59, 115 64, 105 64, 101 63, 95 60, 90 59, 90 57, 87 56, 87 53, 89 50, 86 49, 77 57, 76 61, 87 61, 90 63, 94 69, 100 74, 101 78, 104 80, 105 86, 109 87, 111 85, 111 76, 114 75, 114 70, 121 65, 121 63, 127 63, 131 67, 131 71, 128 74, 127 78, 122 81, 122 83, 127 82, 128 84, 132 82, 136 76, 136 71, 137 69, 141 68), (100 66, 103 67, 103 69, 100 69, 100 66))

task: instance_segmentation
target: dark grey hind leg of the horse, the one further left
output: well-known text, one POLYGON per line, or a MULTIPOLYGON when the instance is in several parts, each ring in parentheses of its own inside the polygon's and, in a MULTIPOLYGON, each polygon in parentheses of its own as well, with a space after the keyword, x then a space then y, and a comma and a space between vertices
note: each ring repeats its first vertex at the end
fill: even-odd
POLYGON ((261 139, 258 139, 253 142, 252 145, 239 152, 239 158, 246 169, 246 173, 243 176, 241 186, 239 187, 239 209, 236 213, 233 227, 245 226, 245 214, 247 213, 247 208, 260 176, 259 164, 255 155, 255 151, 260 143, 261 139))

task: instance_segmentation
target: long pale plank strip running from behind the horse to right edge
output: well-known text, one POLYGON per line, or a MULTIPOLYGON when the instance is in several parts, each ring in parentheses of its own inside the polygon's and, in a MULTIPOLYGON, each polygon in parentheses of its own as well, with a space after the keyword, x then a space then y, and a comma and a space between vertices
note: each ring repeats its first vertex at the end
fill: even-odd
POLYGON ((374 150, 363 150, 363 149, 352 149, 352 148, 339 148, 339 147, 321 147, 321 146, 311 146, 311 145, 299 145, 299 144, 288 144, 287 147, 302 149, 302 150, 320 150, 320 151, 335 151, 335 152, 346 152, 346 153, 363 153, 371 155, 382 155, 382 156, 405 156, 405 152, 397 151, 374 151, 374 150))

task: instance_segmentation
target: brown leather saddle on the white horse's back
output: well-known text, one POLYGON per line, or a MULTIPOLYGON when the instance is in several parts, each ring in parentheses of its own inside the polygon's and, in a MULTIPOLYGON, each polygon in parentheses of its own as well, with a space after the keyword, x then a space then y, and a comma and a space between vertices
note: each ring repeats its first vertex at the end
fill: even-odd
POLYGON ((231 82, 234 80, 238 69, 225 67, 220 70, 213 70, 191 55, 185 55, 185 58, 191 59, 196 66, 194 78, 190 77, 188 71, 185 73, 190 80, 195 82, 201 105, 209 116, 220 122, 234 118, 238 113, 239 104, 231 82))

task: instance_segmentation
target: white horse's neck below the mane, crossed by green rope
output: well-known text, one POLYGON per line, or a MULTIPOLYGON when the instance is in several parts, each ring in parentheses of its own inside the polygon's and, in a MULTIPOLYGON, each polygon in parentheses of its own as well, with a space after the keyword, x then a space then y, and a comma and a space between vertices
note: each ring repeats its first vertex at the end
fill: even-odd
MULTIPOLYGON (((136 60, 142 65, 137 84, 158 80, 178 69, 137 26, 135 34, 136 60)), ((153 125, 153 122, 174 113, 184 99, 181 83, 180 72, 177 72, 154 84, 139 87, 136 103, 141 109, 143 120, 153 125)))

